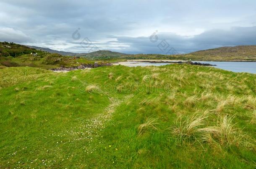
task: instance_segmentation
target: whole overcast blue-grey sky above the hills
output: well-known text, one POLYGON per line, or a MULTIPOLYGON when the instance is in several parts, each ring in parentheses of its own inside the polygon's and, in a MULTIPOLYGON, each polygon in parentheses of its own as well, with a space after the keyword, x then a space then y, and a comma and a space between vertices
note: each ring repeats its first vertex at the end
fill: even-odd
POLYGON ((256 45, 256 1, 1 0, 0 41, 131 54, 256 45))

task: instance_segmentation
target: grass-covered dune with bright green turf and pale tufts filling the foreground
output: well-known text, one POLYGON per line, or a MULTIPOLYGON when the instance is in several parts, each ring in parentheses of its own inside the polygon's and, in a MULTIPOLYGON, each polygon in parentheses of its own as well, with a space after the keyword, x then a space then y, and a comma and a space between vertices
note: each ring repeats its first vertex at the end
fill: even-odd
POLYGON ((0 168, 255 168, 256 75, 0 70, 0 168))

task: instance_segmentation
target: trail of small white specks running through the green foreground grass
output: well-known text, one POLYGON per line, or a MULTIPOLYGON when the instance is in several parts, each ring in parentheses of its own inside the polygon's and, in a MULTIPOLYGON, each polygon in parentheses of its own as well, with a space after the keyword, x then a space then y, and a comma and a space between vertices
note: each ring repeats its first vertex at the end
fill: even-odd
MULTIPOLYGON (((102 136, 100 135, 101 131, 105 128, 105 126, 112 120, 112 116, 115 113, 115 109, 120 106, 121 103, 128 101, 129 98, 133 97, 132 94, 124 96, 121 99, 115 97, 109 97, 110 105, 107 106, 101 114, 96 114, 91 119, 87 119, 78 123, 75 127, 71 127, 70 129, 63 131, 61 133, 53 133, 50 136, 58 136, 59 139, 56 141, 55 151, 63 149, 66 147, 71 149, 72 147, 80 146, 80 149, 83 153, 91 154, 94 153, 98 146, 98 144, 104 144, 102 136), (70 138, 67 142, 63 141, 64 138, 70 138), (79 143, 78 143, 79 142, 79 143), (82 145, 82 146, 81 146, 82 145)), ((44 137, 47 139, 47 137, 44 137)), ((77 149, 77 148, 76 148, 77 149)), ((36 163, 40 166, 51 167, 54 166, 58 162, 63 162, 72 159, 74 156, 78 154, 62 154, 63 156, 59 156, 59 158, 52 158, 47 156, 48 150, 45 151, 46 156, 43 159, 34 159, 30 161, 30 163, 36 163)), ((59 154, 60 155, 60 154, 59 154)), ((82 154, 85 156, 85 154, 82 154)), ((81 154, 79 154, 81 156, 81 154)), ((87 164, 84 164, 85 166, 87 164)))

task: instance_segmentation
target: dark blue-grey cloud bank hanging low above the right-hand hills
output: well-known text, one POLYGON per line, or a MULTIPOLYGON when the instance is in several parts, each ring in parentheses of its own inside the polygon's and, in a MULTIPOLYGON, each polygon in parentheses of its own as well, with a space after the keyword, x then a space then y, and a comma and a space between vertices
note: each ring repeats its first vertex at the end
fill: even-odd
MULTIPOLYGON (((166 40, 170 48, 178 53, 190 53, 196 50, 205 50, 222 46, 253 45, 256 44, 256 27, 237 27, 230 30, 209 30, 200 35, 181 36, 173 33, 158 33, 158 41, 152 43, 150 37, 116 37, 116 43, 128 43, 130 48, 126 53, 163 53, 158 45, 166 40)), ((122 52, 122 51, 120 51, 122 52)))

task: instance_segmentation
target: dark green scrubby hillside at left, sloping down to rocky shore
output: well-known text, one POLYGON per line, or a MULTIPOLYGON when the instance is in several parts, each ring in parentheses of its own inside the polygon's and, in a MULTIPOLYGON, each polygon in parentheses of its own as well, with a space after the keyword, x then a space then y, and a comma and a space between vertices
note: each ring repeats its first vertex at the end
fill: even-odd
POLYGON ((78 68, 104 66, 107 63, 90 61, 86 58, 74 58, 72 56, 63 56, 57 53, 48 53, 42 50, 36 50, 24 45, 15 43, 0 43, 0 68, 6 67, 37 67, 44 69, 52 68, 78 68), (32 54, 31 54, 32 53, 32 54))

